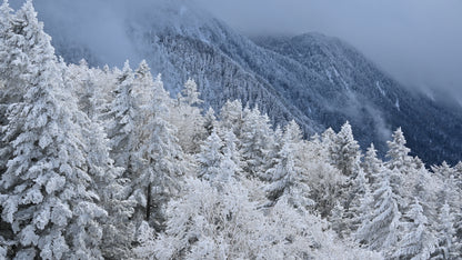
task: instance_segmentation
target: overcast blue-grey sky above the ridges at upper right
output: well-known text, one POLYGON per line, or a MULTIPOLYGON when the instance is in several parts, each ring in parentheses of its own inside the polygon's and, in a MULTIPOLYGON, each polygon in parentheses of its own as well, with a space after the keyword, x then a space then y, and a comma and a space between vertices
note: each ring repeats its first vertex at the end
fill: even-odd
POLYGON ((462 102, 462 0, 195 0, 247 34, 322 32, 462 102))

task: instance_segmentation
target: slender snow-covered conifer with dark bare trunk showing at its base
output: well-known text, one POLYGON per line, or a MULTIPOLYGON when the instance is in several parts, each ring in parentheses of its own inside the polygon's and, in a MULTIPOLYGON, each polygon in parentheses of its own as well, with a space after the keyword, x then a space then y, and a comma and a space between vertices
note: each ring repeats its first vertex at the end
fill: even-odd
POLYGON ((153 100, 142 129, 141 144, 137 152, 140 170, 133 179, 132 198, 138 201, 137 219, 148 221, 155 230, 163 228, 163 207, 179 189, 179 178, 184 173, 184 154, 175 138, 175 129, 165 117, 169 108, 168 92, 160 74, 151 88, 153 100))

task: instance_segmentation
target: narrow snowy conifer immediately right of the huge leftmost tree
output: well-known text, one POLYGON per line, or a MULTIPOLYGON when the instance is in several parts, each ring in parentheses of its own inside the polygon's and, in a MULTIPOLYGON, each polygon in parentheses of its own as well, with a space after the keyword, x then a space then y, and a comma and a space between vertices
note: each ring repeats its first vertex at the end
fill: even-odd
POLYGON ((114 167, 109 157, 109 140, 102 126, 91 121, 86 127, 88 172, 94 179, 98 204, 108 212, 102 221, 101 251, 104 258, 129 258, 134 241, 134 224, 130 221, 134 201, 128 199, 129 180, 121 178, 123 168, 114 167))

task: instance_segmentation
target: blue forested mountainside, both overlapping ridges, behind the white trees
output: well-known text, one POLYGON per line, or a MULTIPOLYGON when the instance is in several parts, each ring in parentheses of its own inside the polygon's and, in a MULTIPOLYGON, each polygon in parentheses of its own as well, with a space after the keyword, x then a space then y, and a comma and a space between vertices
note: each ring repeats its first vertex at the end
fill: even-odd
MULTIPOLYGON (((402 127, 413 154, 428 163, 455 163, 462 156, 460 109, 406 90, 341 40, 309 33, 260 38, 255 44, 184 1, 132 9, 121 18, 127 38, 152 71, 163 74, 173 97, 192 78, 204 107, 215 110, 240 99, 259 106, 274 124, 295 119, 305 136, 339 130, 349 120, 359 142, 374 142, 380 156, 392 130, 402 127)), ((48 28, 68 62, 84 57, 104 64, 61 24, 48 28)))

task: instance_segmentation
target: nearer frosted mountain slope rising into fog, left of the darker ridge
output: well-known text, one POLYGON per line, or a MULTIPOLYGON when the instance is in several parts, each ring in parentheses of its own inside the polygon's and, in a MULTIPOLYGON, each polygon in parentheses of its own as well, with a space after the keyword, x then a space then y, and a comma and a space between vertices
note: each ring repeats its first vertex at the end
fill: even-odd
POLYGON ((274 89, 265 76, 253 70, 261 69, 252 63, 257 61, 260 66, 270 64, 273 77, 283 73, 284 68, 273 58, 279 54, 255 46, 208 13, 184 3, 160 6, 155 13, 159 14, 149 12, 131 19, 130 38, 152 70, 162 73, 173 93, 192 78, 202 99, 215 110, 229 99, 240 99, 250 106, 258 104, 273 122, 284 123, 294 118, 307 132, 322 129, 274 89))

